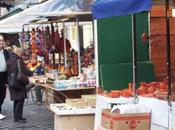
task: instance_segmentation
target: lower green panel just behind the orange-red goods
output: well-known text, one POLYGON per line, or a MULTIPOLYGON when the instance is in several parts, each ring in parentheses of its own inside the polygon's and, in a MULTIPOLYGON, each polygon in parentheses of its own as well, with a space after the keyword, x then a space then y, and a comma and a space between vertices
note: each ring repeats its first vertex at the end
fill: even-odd
MULTIPOLYGON (((140 62, 137 70, 138 82, 155 81, 152 63, 140 62)), ((104 90, 124 89, 132 82, 132 63, 101 65, 100 72, 104 90)))

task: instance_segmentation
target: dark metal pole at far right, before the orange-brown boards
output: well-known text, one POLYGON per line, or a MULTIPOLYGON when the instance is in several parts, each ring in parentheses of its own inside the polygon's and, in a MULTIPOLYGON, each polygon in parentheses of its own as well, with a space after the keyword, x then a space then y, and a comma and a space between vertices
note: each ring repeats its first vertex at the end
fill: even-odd
POLYGON ((170 49, 170 16, 169 11, 169 0, 166 0, 166 51, 167 51, 167 80, 168 80, 168 105, 171 106, 171 49, 170 49))

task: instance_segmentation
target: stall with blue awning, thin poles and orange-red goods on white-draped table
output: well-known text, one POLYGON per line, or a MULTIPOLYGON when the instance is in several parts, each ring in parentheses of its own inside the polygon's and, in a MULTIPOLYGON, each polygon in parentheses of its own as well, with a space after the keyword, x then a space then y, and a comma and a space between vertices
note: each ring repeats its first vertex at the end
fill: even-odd
MULTIPOLYGON (((134 7, 134 5, 132 5, 134 3, 134 0, 132 1, 133 3, 132 2, 130 3, 130 2, 131 1, 127 1, 127 0, 126 1, 117 1, 117 2, 116 1, 108 2, 108 1, 103 1, 103 0, 97 1, 94 4, 94 7, 93 7, 94 17, 97 18, 97 19, 98 18, 107 18, 107 17, 111 17, 111 16, 122 15, 122 13, 123 14, 130 14, 132 11, 133 12, 131 14, 133 15, 133 13, 138 13, 139 11, 141 11, 139 8, 138 8, 139 10, 137 10, 137 7, 134 7), (123 2, 123 6, 122 6, 122 2, 123 2), (127 3, 128 6, 126 6, 126 3, 127 3), (115 5, 115 6, 113 6, 113 5, 115 5), (129 5, 132 5, 131 8, 132 7, 134 7, 134 8, 130 10, 128 8, 129 5), (104 7, 106 7, 106 6, 109 6, 110 8, 108 8, 108 10, 105 10, 106 8, 104 8, 104 7), (116 8, 116 6, 118 6, 118 8, 116 8), (114 8, 112 8, 112 7, 114 7, 114 8), (120 7, 122 9, 120 9, 120 7), (111 9, 111 11, 110 11, 110 9, 111 9), (114 10, 116 10, 116 12, 114 10)), ((145 8, 146 10, 150 9, 151 1, 145 1, 145 2, 141 1, 141 2, 143 2, 143 3, 140 3, 139 7, 141 7, 142 9, 145 8)), ((137 3, 135 3, 135 6, 137 6, 137 4, 139 4, 138 1, 137 1, 137 3)), ((133 25, 132 26, 133 27, 133 32, 132 33, 135 34, 136 33, 135 32, 135 27, 136 26, 134 25, 134 16, 133 16, 132 20, 133 20, 132 21, 133 22, 132 23, 132 25, 133 25)), ((167 28, 169 28, 169 26, 167 26, 167 28)), ((135 37, 136 37, 136 35, 135 35, 135 37)), ((95 130, 97 130, 100 125, 105 126, 103 123, 100 124, 100 122, 103 122, 105 120, 104 119, 105 118, 104 113, 102 112, 102 109, 100 107, 111 108, 111 106, 113 106, 114 104, 118 104, 118 105, 119 104, 130 104, 130 103, 133 103, 133 100, 134 100, 134 103, 136 103, 138 101, 138 104, 142 104, 142 105, 145 105, 145 106, 148 106, 149 108, 151 108, 151 110, 152 110, 151 129, 152 130, 156 130, 156 129, 166 129, 166 130, 167 129, 174 129, 174 126, 172 125, 173 120, 174 120, 174 118, 173 118, 174 114, 172 112, 173 111, 172 109, 174 109, 174 102, 172 102, 172 104, 173 104, 172 106, 171 106, 171 102, 170 102, 170 100, 173 100, 173 95, 171 95, 171 90, 172 89, 170 87, 171 86, 170 85, 171 76, 170 76, 170 66, 169 66, 170 61, 169 60, 167 61, 167 66, 168 66, 168 71, 169 71, 168 72, 168 82, 166 82, 166 81, 164 83, 161 83, 161 82, 158 83, 157 82, 156 85, 155 85, 156 87, 153 85, 154 83, 152 83, 152 85, 154 87, 153 86, 150 87, 150 85, 147 84, 147 87, 145 87, 145 88, 143 87, 145 90, 142 89, 145 92, 143 92, 142 90, 140 91, 140 89, 138 89, 136 91, 136 84, 137 84, 137 73, 136 73, 137 72, 137 62, 136 62, 136 59, 137 58, 135 57, 136 56, 136 50, 135 50, 136 49, 136 40, 134 38, 134 35, 133 35, 133 44, 135 44, 135 45, 133 45, 133 57, 134 57, 133 58, 133 84, 134 85, 133 86, 131 85, 131 86, 134 87, 134 89, 130 89, 131 86, 129 85, 128 88, 129 88, 130 92, 127 89, 124 89, 122 91, 114 90, 114 91, 111 91, 111 93, 104 93, 102 96, 97 96, 95 130), (155 89, 155 90, 152 91, 151 89, 152 90, 155 89), (132 97, 133 95, 131 94, 131 90, 134 92, 134 95, 137 93, 139 95, 149 97, 149 98, 138 97, 138 100, 135 100, 135 96, 133 98, 123 98, 123 97, 132 97), (152 92, 150 92, 150 90, 152 92), (168 92, 167 92, 167 90, 168 90, 168 92), (154 92, 156 92, 156 93, 154 93, 154 92), (146 95, 146 93, 147 93, 147 95, 146 95), (109 97, 113 97, 114 99, 109 98, 109 97), (167 99, 167 97, 168 97, 168 99, 167 99), (155 99, 155 98, 158 98, 158 99, 155 99), (162 101, 162 99, 166 100, 166 101, 162 101), (168 100, 168 102, 167 102, 167 100, 168 100), (170 104, 170 106, 169 106, 169 104, 170 104), (97 113, 99 113, 99 114, 97 114, 97 113), (102 116, 102 118, 99 118, 100 116, 102 116), (162 118, 162 117, 165 117, 165 118, 162 118)), ((167 44, 169 44, 168 40, 167 40, 167 44)), ((169 51, 170 51, 169 46, 167 48, 168 48, 167 52, 169 53, 169 51)), ((170 57, 170 56, 168 55, 167 57, 170 57)), ((142 85, 142 83, 141 83, 141 85, 142 85)), ((115 115, 115 112, 114 112, 114 115, 115 115)), ((113 118, 113 116, 111 115, 112 118, 113 118)), ((119 120, 119 118, 117 118, 117 115, 114 118, 116 118, 116 120, 117 119, 119 120)), ((111 121, 113 121, 113 119, 111 119, 111 121)), ((100 129, 103 129, 103 128, 100 127, 100 129)), ((115 129, 117 129, 116 126, 115 126, 115 129)))

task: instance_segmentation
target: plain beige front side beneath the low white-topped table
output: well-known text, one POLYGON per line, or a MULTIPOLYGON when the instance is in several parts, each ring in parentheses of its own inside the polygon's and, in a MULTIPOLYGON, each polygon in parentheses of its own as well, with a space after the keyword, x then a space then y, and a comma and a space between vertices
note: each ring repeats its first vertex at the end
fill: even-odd
POLYGON ((54 130, 94 130, 94 114, 55 115, 54 130))

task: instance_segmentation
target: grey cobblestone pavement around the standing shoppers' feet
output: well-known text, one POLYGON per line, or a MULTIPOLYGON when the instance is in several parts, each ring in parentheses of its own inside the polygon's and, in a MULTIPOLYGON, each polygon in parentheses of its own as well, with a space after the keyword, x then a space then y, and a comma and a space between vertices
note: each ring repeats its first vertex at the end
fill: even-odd
POLYGON ((14 123, 13 121, 13 102, 9 99, 9 93, 3 104, 2 114, 5 119, 0 120, 0 130, 53 130, 53 113, 49 112, 44 105, 36 105, 31 99, 25 102, 24 118, 27 123, 14 123))

